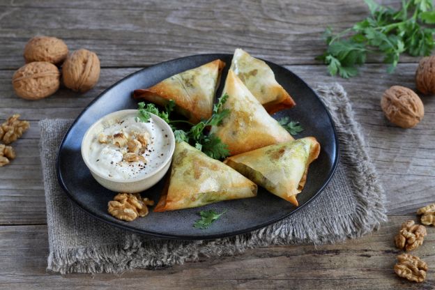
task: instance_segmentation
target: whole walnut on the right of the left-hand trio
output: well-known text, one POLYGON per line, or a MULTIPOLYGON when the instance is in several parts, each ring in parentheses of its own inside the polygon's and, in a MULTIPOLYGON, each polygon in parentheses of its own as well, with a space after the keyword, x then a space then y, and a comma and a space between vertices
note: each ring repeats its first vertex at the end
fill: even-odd
POLYGON ((94 52, 79 49, 71 53, 62 66, 63 84, 84 93, 96 85, 100 77, 100 60, 94 52))

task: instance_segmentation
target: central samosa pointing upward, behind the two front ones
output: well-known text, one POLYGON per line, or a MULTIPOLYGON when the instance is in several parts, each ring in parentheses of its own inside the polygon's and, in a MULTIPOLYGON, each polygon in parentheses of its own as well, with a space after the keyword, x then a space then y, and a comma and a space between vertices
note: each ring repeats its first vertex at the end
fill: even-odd
POLYGON ((227 144, 230 155, 251 151, 271 144, 293 140, 293 137, 273 119, 232 70, 229 70, 224 91, 229 109, 220 125, 211 133, 227 144))

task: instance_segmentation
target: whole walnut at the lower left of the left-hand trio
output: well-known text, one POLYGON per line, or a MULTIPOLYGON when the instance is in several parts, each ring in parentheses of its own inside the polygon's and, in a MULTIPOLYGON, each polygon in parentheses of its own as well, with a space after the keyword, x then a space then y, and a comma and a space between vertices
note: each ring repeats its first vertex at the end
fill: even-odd
POLYGON ((12 77, 15 93, 26 100, 39 100, 55 93, 61 73, 52 63, 35 61, 19 68, 12 77))

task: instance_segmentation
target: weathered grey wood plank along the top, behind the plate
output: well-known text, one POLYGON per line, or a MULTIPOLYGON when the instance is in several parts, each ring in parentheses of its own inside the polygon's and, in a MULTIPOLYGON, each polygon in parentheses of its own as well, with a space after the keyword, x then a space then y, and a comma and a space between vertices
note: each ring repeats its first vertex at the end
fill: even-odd
MULTIPOLYGON (((398 6, 399 1, 383 1, 398 6)), ((0 4, 0 69, 22 66, 37 34, 94 50, 103 67, 141 67, 191 54, 243 47, 281 64, 319 63, 327 26, 337 31, 367 17, 360 0, 339 1, 13 1, 0 4), (122 2, 122 3, 120 3, 122 2), (31 21, 29 21, 31 20, 31 21)), ((381 58, 369 59, 381 61, 381 58)), ((409 56, 402 61, 415 61, 409 56)))

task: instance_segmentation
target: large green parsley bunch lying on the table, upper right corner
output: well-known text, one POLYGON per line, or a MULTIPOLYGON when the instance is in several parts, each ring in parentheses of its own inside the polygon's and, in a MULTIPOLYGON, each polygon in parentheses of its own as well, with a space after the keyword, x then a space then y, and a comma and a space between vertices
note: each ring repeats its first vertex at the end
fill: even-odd
POLYGON ((334 34, 325 32, 326 52, 316 59, 328 65, 330 75, 349 78, 358 75, 369 53, 381 53, 392 73, 399 57, 427 56, 434 49, 435 10, 432 0, 402 0, 402 8, 394 10, 374 0, 365 0, 370 16, 351 28, 334 34))

